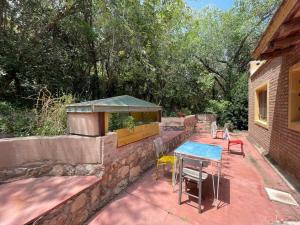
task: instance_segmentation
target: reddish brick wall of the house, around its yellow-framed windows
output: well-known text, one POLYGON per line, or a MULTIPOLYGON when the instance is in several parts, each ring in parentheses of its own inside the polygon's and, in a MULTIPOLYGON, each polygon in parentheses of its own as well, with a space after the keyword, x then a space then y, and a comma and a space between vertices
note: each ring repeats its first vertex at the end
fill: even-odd
POLYGON ((300 61, 300 49, 270 60, 249 78, 249 135, 278 165, 300 180, 300 132, 288 128, 289 68, 300 61), (268 128, 254 121, 255 89, 269 82, 268 128))

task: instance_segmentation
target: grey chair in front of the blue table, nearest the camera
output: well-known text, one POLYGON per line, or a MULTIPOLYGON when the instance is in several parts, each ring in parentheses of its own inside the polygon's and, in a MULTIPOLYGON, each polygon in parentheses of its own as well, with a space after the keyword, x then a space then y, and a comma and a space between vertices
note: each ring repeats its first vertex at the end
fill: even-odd
MULTIPOLYGON (((208 174, 202 171, 203 167, 208 166, 208 161, 190 159, 190 158, 180 158, 179 159, 179 196, 178 204, 181 204, 182 193, 187 194, 198 199, 198 211, 201 213, 201 196, 202 196, 202 182, 208 178, 208 174), (192 165, 192 167, 187 167, 186 165, 192 165), (196 167, 195 167, 196 165, 196 167), (193 195, 187 192, 185 186, 185 191, 182 191, 182 182, 183 181, 195 181, 198 188, 198 196, 193 195)), ((214 179, 213 179, 214 187, 214 179)))

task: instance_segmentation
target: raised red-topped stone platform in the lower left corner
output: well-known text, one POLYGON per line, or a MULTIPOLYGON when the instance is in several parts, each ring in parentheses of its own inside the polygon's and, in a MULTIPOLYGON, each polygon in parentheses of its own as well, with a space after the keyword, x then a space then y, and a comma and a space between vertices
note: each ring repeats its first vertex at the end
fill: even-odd
POLYGON ((0 185, 0 224, 81 224, 98 206, 99 182, 96 176, 65 176, 0 185))

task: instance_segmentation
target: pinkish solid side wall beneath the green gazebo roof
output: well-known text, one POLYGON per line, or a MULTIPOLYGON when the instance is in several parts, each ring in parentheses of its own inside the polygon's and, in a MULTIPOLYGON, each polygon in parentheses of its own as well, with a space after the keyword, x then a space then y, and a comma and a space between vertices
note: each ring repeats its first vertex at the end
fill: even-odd
POLYGON ((68 113, 70 134, 100 136, 99 113, 68 113))

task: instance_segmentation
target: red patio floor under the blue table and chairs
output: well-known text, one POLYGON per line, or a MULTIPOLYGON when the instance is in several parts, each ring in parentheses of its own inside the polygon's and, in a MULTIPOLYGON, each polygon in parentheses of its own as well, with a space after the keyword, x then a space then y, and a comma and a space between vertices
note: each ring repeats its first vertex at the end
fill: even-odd
POLYGON ((212 205, 211 178, 203 184, 204 209, 202 214, 199 214, 196 202, 188 200, 185 195, 183 200, 186 201, 178 205, 178 187, 173 192, 169 172, 161 173, 160 178, 156 180, 155 171, 151 169, 99 211, 88 224, 267 225, 278 221, 300 221, 299 207, 270 201, 264 188, 289 192, 298 203, 299 194, 293 192, 273 171, 245 138, 245 134, 240 134, 239 139, 245 143, 245 157, 234 152, 229 154, 227 142, 211 139, 209 134, 196 134, 190 138, 193 141, 224 147, 218 209, 212 205))

